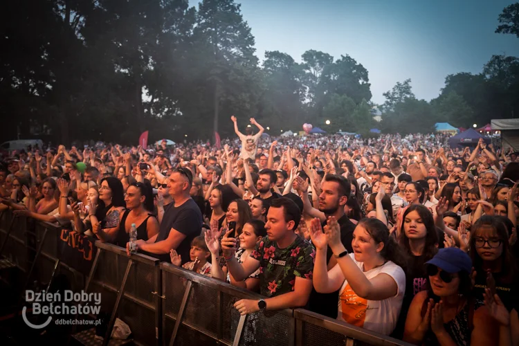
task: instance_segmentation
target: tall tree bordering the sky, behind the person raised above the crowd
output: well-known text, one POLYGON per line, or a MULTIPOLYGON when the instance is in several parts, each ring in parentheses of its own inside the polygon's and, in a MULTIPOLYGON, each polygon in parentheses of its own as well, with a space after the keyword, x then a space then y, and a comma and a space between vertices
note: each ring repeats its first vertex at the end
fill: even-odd
POLYGON ((199 4, 197 26, 197 53, 206 57, 202 71, 208 71, 213 128, 219 129, 219 113, 239 112, 245 117, 255 114, 257 89, 257 57, 251 28, 243 20, 240 5, 233 0, 203 0, 199 4), (221 109, 222 108, 222 109, 221 109))

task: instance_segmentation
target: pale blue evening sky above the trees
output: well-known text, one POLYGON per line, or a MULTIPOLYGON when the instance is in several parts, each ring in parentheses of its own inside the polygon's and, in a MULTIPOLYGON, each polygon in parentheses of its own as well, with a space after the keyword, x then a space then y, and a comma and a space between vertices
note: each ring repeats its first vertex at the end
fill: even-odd
MULTIPOLYGON (((194 6, 199 1, 190 1, 194 6)), ((419 99, 439 95, 449 74, 480 73, 492 55, 519 56, 519 38, 494 33, 504 0, 236 0, 256 55, 301 62, 309 49, 349 55, 369 73, 372 101, 412 80, 419 99)))

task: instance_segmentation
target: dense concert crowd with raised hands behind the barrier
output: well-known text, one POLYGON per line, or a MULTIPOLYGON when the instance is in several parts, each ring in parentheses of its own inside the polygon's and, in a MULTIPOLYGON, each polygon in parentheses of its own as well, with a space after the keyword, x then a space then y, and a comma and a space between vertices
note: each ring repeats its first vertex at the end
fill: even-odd
POLYGON ((221 148, 11 152, 0 210, 264 296, 241 314, 306 307, 416 345, 519 345, 515 152, 445 134, 271 138, 231 120, 221 148))

